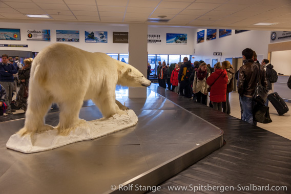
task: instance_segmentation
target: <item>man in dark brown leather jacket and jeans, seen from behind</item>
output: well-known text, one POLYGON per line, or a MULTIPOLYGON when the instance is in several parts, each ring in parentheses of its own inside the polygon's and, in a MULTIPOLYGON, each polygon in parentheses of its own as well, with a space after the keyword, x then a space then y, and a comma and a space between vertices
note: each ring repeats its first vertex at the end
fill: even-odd
POLYGON ((259 73, 259 82, 263 87, 267 87, 265 70, 261 68, 259 63, 254 62, 252 49, 244 49, 242 59, 244 65, 239 69, 238 79, 239 99, 243 109, 242 120, 256 125, 256 122, 253 121, 253 94, 255 93, 259 73))

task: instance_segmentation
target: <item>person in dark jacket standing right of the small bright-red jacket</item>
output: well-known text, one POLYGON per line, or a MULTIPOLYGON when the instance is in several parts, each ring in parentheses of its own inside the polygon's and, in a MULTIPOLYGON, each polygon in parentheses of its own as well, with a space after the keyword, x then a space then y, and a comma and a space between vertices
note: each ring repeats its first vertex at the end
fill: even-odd
POLYGON ((186 75, 187 68, 191 67, 191 61, 188 60, 188 57, 184 57, 183 62, 184 63, 181 65, 180 70, 179 70, 179 74, 178 74, 178 79, 179 79, 179 83, 180 83, 179 93, 182 96, 186 96, 186 97, 190 98, 191 97, 190 91, 189 91, 190 82, 189 82, 189 80, 184 80, 184 76, 186 75))

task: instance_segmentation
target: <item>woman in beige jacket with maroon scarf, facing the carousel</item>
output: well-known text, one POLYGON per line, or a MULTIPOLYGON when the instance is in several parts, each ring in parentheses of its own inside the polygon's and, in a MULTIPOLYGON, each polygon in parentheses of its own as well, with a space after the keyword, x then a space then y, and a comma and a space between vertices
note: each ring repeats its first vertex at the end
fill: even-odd
POLYGON ((197 102, 201 104, 207 104, 207 89, 209 85, 206 83, 207 78, 210 76, 210 73, 207 72, 207 64, 202 62, 198 71, 194 73, 194 80, 193 80, 193 93, 196 95, 197 102))

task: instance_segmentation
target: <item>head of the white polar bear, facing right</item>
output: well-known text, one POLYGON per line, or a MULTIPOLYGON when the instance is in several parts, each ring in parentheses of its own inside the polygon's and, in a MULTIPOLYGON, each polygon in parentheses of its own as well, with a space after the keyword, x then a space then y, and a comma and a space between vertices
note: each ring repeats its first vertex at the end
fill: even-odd
POLYGON ((148 87, 151 85, 152 82, 130 64, 126 64, 122 69, 123 71, 118 72, 119 76, 117 84, 128 87, 148 87))

